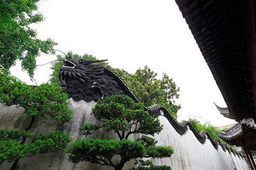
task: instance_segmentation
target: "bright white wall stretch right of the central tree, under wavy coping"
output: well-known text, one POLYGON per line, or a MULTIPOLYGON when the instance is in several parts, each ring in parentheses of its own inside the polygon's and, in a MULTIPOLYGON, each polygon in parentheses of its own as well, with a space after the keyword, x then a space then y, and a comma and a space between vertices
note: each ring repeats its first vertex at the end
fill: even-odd
POLYGON ((164 125, 164 130, 154 137, 159 141, 157 145, 171 146, 174 154, 170 158, 153 159, 154 164, 166 164, 179 170, 249 169, 245 159, 240 159, 233 153, 229 154, 228 151, 224 152, 220 146, 216 150, 210 140, 202 145, 191 130, 179 135, 164 116, 160 116, 159 120, 164 125))

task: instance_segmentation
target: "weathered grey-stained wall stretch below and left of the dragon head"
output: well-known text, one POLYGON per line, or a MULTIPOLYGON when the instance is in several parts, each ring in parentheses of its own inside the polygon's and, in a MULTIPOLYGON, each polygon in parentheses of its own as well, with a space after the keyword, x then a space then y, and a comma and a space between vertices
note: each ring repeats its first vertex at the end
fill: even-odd
MULTIPOLYGON (((92 113, 92 108, 95 106, 95 102, 86 101, 74 101, 69 99, 69 107, 73 109, 73 119, 70 123, 60 123, 53 118, 43 118, 38 116, 35 120, 31 132, 35 135, 47 134, 53 130, 61 130, 63 132, 69 132, 70 137, 73 140, 81 140, 86 137, 82 135, 79 128, 85 123, 96 123, 97 120, 92 113)), ((0 128, 19 128, 21 130, 25 129, 30 123, 31 116, 23 113, 23 108, 17 108, 16 106, 5 107, 0 105, 0 128)), ((98 130, 87 138, 101 138, 101 139, 111 139, 117 138, 114 132, 103 132, 98 130)), ((11 167, 12 163, 5 162, 0 166, 0 170, 6 170, 11 167)), ((133 163, 128 163, 124 167, 129 166, 133 163)), ((100 169, 110 169, 110 166, 100 166, 97 164, 90 164, 88 162, 82 162, 79 164, 73 164, 68 161, 68 154, 63 152, 52 152, 48 154, 37 154, 33 157, 25 157, 20 159, 18 166, 20 170, 100 170, 100 169)), ((129 168, 125 168, 129 169, 129 168)))

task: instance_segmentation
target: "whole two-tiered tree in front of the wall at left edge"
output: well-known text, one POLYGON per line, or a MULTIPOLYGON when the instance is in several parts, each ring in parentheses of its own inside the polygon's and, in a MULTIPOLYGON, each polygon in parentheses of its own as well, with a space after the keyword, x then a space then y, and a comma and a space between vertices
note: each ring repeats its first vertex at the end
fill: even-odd
POLYGON ((67 94, 62 93, 60 87, 49 84, 28 86, 11 77, 6 69, 0 71, 0 102, 5 106, 23 107, 24 113, 31 115, 25 130, 0 130, 0 163, 15 160, 11 167, 15 169, 20 157, 63 149, 70 142, 68 134, 50 132, 48 135, 33 136, 29 130, 36 115, 49 116, 63 123, 70 121, 72 111, 67 105, 67 94), (26 139, 31 139, 31 142, 26 142, 29 141, 26 139))

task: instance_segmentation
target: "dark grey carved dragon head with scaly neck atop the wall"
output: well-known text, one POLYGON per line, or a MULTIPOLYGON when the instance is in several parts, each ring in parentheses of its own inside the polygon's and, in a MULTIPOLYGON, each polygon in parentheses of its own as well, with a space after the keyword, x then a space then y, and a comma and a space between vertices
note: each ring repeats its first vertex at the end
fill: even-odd
POLYGON ((109 70, 96 62, 107 60, 79 60, 71 57, 64 60, 59 77, 63 91, 75 101, 97 101, 99 98, 114 94, 122 95, 122 87, 111 77, 109 70))

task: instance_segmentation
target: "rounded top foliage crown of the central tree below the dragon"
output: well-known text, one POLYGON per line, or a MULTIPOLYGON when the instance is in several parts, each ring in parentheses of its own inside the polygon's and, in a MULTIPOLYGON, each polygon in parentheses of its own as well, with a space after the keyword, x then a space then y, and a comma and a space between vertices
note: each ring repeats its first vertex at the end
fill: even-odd
MULTIPOLYGON (((127 139, 134 133, 154 135, 163 129, 158 118, 149 116, 142 103, 135 103, 128 96, 114 95, 101 98, 97 101, 92 114, 104 123, 105 130, 114 130, 120 140, 127 139)), ((85 126, 82 128, 82 132, 85 132, 85 126)))

